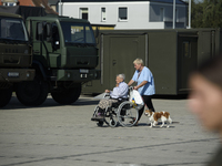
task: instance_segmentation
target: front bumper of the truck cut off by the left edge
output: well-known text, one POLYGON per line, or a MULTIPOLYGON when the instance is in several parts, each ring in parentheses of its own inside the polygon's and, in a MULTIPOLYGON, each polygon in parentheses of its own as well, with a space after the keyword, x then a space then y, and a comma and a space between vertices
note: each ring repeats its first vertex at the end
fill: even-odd
POLYGON ((32 81, 34 74, 32 69, 0 69, 0 82, 32 81))

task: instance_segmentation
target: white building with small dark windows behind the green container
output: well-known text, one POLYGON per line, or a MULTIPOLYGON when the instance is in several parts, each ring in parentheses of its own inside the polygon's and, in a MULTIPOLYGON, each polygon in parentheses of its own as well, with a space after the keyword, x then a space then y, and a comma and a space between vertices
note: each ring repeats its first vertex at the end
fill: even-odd
MULTIPOLYGON (((175 28, 186 28, 188 3, 175 0, 175 28)), ((173 0, 61 0, 62 15, 115 29, 171 29, 173 0)))

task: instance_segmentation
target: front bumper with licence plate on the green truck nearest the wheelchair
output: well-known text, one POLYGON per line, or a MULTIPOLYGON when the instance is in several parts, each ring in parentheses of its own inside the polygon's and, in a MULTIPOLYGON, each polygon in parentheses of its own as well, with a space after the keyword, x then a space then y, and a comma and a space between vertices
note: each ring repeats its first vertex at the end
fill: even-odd
POLYGON ((77 83, 99 80, 101 76, 100 70, 52 70, 52 81, 73 81, 77 83))

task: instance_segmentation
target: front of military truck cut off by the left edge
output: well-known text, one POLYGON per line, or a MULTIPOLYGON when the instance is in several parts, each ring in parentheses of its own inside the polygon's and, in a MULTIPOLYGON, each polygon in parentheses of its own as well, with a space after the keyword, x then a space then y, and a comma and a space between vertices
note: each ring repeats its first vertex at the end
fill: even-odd
POLYGON ((9 103, 19 82, 33 80, 31 64, 32 49, 22 18, 0 13, 0 107, 9 103))

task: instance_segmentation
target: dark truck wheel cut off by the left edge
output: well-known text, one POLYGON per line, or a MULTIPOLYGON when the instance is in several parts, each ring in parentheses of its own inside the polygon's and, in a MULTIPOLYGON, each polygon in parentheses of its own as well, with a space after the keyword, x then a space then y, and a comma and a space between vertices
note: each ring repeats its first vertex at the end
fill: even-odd
POLYGON ((12 94, 12 87, 0 90, 0 107, 6 106, 10 100, 12 94))

